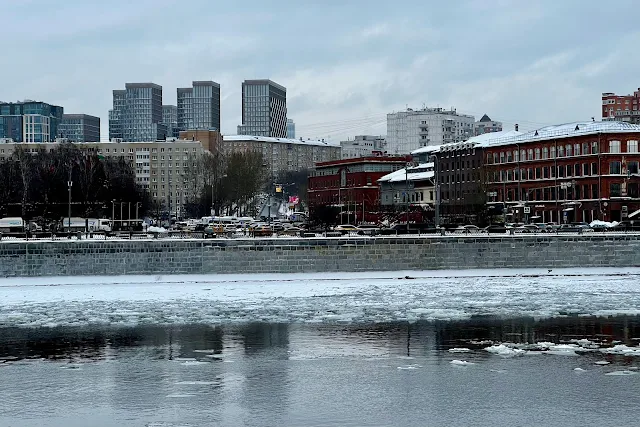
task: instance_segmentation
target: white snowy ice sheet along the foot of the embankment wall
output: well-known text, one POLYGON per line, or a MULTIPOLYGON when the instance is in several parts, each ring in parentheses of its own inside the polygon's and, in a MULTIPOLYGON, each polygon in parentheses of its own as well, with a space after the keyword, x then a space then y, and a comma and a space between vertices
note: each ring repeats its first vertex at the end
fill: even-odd
POLYGON ((0 279, 0 326, 640 314, 640 269, 0 279))

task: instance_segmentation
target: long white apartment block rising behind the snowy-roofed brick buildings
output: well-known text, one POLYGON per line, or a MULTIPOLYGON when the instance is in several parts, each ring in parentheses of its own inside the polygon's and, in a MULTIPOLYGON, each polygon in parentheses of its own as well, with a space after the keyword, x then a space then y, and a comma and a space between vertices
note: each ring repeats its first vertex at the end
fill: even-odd
POLYGON ((475 118, 455 108, 422 108, 387 114, 387 152, 409 154, 421 147, 462 142, 474 134, 475 118))

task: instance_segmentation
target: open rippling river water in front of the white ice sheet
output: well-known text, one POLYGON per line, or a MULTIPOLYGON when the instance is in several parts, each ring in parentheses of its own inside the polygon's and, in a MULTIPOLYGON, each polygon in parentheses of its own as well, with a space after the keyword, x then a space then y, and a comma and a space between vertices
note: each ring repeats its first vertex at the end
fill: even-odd
POLYGON ((636 372, 638 358, 598 366, 601 353, 476 351, 464 356, 476 365, 456 369, 450 361, 462 356, 447 350, 580 338, 635 346, 638 337, 639 317, 5 328, 0 425, 495 427, 557 425, 568 413, 563 425, 624 424, 639 415, 640 375, 604 374, 636 372))

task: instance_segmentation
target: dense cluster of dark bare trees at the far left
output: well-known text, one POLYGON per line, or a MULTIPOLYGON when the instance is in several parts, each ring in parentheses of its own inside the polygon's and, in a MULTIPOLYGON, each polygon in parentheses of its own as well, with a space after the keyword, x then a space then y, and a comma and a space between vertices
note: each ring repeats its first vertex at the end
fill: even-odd
POLYGON ((139 214, 150 198, 136 183, 135 171, 123 159, 101 158, 73 144, 31 153, 16 147, 0 162, 0 214, 25 219, 59 220, 68 215, 68 181, 73 216, 110 217, 112 201, 139 203, 139 214))

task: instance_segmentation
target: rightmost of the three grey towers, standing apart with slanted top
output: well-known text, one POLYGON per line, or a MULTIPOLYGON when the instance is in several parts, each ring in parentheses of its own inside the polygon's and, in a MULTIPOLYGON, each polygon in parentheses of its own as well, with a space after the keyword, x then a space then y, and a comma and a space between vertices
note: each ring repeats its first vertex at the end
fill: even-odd
POLYGON ((238 135, 287 137, 287 89, 271 80, 242 82, 238 135))

